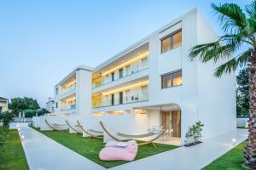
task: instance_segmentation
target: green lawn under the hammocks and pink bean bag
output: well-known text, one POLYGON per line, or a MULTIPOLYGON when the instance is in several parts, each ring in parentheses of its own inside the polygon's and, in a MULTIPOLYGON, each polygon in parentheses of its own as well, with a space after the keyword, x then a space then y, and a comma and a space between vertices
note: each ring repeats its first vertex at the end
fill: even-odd
MULTIPOLYGON (((38 128, 36 128, 38 130, 38 128)), ((39 131, 39 130, 38 130, 39 131)), ((54 139, 56 142, 63 144, 67 148, 74 150, 80 155, 95 161, 102 167, 115 167, 126 163, 127 161, 101 161, 99 159, 99 152, 104 147, 102 139, 89 139, 83 138, 82 134, 67 133, 65 131, 40 131, 50 139, 54 139)), ((137 152, 136 160, 144 157, 153 156, 167 150, 173 150, 177 146, 168 144, 156 144, 157 149, 151 144, 140 146, 137 152)))

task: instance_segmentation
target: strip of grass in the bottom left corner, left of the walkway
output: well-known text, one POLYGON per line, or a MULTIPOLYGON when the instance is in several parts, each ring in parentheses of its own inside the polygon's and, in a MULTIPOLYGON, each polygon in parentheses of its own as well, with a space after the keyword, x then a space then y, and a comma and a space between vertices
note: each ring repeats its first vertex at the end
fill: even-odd
POLYGON ((18 131, 9 130, 7 144, 0 151, 0 169, 26 170, 28 169, 26 157, 20 142, 18 131))

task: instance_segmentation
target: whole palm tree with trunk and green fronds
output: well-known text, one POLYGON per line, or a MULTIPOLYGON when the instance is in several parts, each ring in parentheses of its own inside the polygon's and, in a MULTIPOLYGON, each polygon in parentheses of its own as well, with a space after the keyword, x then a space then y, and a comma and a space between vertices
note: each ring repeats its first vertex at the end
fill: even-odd
POLYGON ((244 158, 247 167, 256 169, 256 0, 248 4, 244 11, 236 3, 212 3, 212 8, 218 15, 225 34, 218 37, 216 42, 191 48, 189 58, 193 60, 198 57, 202 63, 210 60, 216 63, 220 59, 227 59, 227 62, 215 70, 216 77, 248 65, 250 107, 244 158), (246 50, 241 52, 242 48, 246 50))

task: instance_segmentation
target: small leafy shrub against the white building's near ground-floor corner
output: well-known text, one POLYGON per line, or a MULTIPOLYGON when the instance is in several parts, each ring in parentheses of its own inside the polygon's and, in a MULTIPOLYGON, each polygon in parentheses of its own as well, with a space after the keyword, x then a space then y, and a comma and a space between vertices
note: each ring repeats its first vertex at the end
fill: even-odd
POLYGON ((192 125, 189 127, 189 132, 186 133, 186 142, 187 143, 197 143, 201 141, 201 131, 202 127, 204 127, 204 124, 201 123, 201 121, 196 122, 195 125, 192 125), (192 142, 189 142, 189 139, 193 139, 192 142))

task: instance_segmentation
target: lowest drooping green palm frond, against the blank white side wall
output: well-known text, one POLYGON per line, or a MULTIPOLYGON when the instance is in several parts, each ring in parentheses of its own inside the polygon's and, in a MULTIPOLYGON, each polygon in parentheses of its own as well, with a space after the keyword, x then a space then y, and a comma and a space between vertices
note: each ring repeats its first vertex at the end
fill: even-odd
POLYGON ((237 55, 235 58, 230 59, 223 65, 218 66, 214 72, 215 77, 221 77, 224 73, 230 73, 236 71, 238 66, 247 64, 248 59, 252 56, 253 49, 248 49, 246 52, 237 55))

